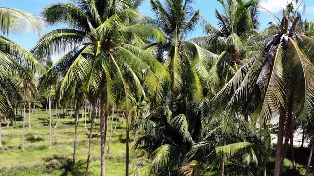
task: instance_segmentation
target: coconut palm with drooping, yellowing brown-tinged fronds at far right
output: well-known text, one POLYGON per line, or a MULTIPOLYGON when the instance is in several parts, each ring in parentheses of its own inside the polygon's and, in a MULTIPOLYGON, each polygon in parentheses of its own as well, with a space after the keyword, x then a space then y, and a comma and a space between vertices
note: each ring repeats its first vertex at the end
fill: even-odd
POLYGON ((250 117, 253 121, 259 120, 262 127, 273 115, 279 114, 274 176, 281 174, 288 146, 289 135, 283 145, 284 133, 288 134, 284 130, 289 129, 284 128, 284 122, 295 113, 296 120, 302 126, 308 126, 314 100, 313 39, 307 35, 305 22, 292 3, 287 5, 283 14, 279 25, 270 27, 269 31, 275 32, 271 37, 264 37, 262 32, 251 40, 252 46, 262 41, 262 49, 251 55, 216 95, 216 99, 221 99, 218 97, 222 93, 230 98, 228 111, 237 109, 241 102, 255 99, 252 108, 255 110, 250 117))

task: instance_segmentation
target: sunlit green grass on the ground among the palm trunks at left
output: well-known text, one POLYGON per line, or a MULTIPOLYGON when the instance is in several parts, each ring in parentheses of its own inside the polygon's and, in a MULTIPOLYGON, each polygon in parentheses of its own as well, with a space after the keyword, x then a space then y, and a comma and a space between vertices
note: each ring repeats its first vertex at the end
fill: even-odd
MULTIPOLYGON (((108 148, 111 116, 106 138, 105 153, 108 148)), ((120 118, 119 118, 120 119, 120 118)), ((87 115, 89 120, 89 114, 87 115)), ((114 119, 115 120, 115 119, 114 119)), ((115 121, 114 121, 115 123, 115 121)), ((105 154, 106 176, 125 175, 125 125, 118 121, 117 130, 112 134, 110 154, 105 154)), ((2 146, 0 149, 0 176, 83 176, 86 170, 88 154, 88 134, 90 121, 87 129, 84 129, 84 119, 79 116, 76 165, 72 166, 74 144, 74 119, 66 116, 60 118, 58 126, 52 125, 52 142, 49 145, 48 112, 36 109, 31 115, 31 131, 28 131, 28 114, 25 127, 25 151, 21 151, 22 144, 22 121, 6 127, 2 123, 2 146)), ((133 140, 133 133, 130 132, 133 140)), ((133 143, 130 143, 131 147, 133 143)), ((132 152, 130 149, 130 173, 141 168, 139 163, 150 163, 141 151, 132 152)), ((100 126, 95 123, 93 129, 91 162, 89 175, 100 175, 100 126)))

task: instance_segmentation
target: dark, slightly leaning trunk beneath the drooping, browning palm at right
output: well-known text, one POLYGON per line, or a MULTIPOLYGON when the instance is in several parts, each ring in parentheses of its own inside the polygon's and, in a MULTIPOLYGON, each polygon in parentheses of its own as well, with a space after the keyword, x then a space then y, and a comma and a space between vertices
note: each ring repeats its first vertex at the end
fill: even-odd
POLYGON ((281 149, 283 147, 285 117, 286 117, 286 110, 282 107, 280 110, 280 115, 279 115, 274 176, 280 176, 280 173, 281 173, 281 159, 282 159, 281 149))

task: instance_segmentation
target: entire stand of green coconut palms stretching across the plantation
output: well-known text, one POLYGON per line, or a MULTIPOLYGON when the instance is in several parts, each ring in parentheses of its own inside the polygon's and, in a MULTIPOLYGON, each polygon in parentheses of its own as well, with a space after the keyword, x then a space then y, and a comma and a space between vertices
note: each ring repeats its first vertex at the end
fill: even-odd
POLYGON ((259 0, 218 1, 218 27, 193 9, 194 0, 150 0, 156 18, 137 11, 143 0, 71 0, 45 7, 42 17, 0 8, 4 36, 40 34, 46 24, 66 26, 43 35, 30 51, 0 36, 0 111, 12 123, 23 109, 22 150, 26 103, 31 130, 30 111, 45 106, 38 102, 39 94, 45 94, 49 142, 52 106, 59 109, 56 114, 70 107, 71 116, 75 107, 73 165, 80 107, 85 127, 90 112, 86 176, 94 119, 99 113, 105 176, 108 116, 112 111, 111 136, 119 110, 127 123, 126 176, 200 176, 209 171, 266 176, 273 150, 270 120, 277 115, 273 176, 281 175, 298 127, 311 143, 308 175, 314 139, 314 38, 313 21, 299 13, 303 1, 288 0, 282 18, 263 30, 259 0), (187 40, 199 26, 205 35, 187 40), (53 64, 55 55, 62 57, 53 64), (135 173, 129 173, 130 129, 134 149, 152 159, 135 173))

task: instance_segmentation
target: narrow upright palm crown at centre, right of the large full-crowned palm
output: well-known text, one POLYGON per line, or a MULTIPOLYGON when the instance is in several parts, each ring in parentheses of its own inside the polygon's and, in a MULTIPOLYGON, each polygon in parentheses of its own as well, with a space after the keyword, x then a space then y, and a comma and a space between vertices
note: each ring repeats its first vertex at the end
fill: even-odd
MULTIPOLYGON (((175 98, 186 87, 188 96, 198 104, 203 99, 202 84, 206 82, 204 78, 208 75, 208 60, 218 56, 186 40, 201 20, 199 11, 194 11, 192 7, 194 2, 194 0, 167 0, 162 3, 160 0, 151 0, 151 8, 156 15, 156 19, 151 23, 164 31, 168 41, 165 44, 157 42, 146 44, 142 48, 169 69, 170 83, 165 85, 160 83, 159 92, 163 92, 165 88, 170 89, 167 94, 175 98), (189 80, 189 84, 184 84, 186 81, 184 79, 189 80)), ((147 93, 150 97, 157 96, 147 93)))

